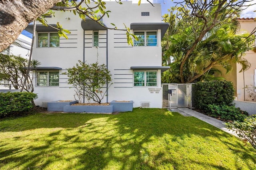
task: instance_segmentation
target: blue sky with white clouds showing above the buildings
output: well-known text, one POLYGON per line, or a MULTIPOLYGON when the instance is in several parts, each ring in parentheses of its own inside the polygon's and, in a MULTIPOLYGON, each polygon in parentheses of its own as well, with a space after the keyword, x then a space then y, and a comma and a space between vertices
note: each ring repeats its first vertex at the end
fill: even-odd
MULTIPOLYGON (((122 0, 122 1, 130 1, 130 0, 122 0)), ((138 3, 139 0, 132 0, 133 3, 138 3)), ((182 0, 174 0, 174 2, 180 2, 182 0)), ((162 8, 162 16, 164 14, 168 14, 168 9, 170 9, 171 6, 174 6, 174 2, 172 0, 150 0, 152 3, 160 3, 162 8)), ((256 0, 253 0, 254 3, 256 3, 256 0)), ((141 3, 149 3, 146 0, 141 0, 141 3)), ((250 4, 250 3, 247 3, 250 4)), ((251 2, 252 4, 252 2, 251 2)), ((256 12, 253 12, 256 10, 256 5, 248 7, 246 10, 243 11, 242 14, 240 14, 240 18, 256 18, 256 12)), ((32 38, 32 34, 24 30, 22 32, 23 35, 28 36, 32 38)))

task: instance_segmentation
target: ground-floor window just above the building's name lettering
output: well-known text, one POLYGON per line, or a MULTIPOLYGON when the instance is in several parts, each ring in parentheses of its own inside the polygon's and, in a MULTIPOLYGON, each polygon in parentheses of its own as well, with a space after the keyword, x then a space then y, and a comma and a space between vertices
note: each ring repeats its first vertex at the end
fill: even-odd
POLYGON ((157 86, 157 71, 134 71, 134 86, 157 86))

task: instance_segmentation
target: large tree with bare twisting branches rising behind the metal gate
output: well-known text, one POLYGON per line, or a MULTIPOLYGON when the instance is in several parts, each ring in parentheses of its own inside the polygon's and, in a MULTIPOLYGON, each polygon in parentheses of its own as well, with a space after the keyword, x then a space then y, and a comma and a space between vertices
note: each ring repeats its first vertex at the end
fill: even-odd
POLYGON ((228 25, 238 17, 238 12, 242 8, 248 7, 245 2, 252 2, 252 0, 184 0, 170 9, 170 16, 167 14, 164 16, 164 21, 170 23, 168 34, 166 34, 166 46, 163 49, 166 52, 164 58, 168 60, 171 55, 176 62, 180 63, 181 83, 195 81, 214 65, 227 63, 228 58, 235 58, 236 61, 246 63, 239 56, 249 49, 248 45, 252 40, 252 34, 238 38, 234 36, 236 30, 228 28, 228 25), (222 30, 218 31, 220 28, 222 30), (229 41, 225 43, 222 36, 225 36, 226 40, 232 36, 235 43, 242 40, 243 43, 246 43, 246 47, 240 44, 240 47, 234 49, 235 44, 228 44, 229 41), (222 40, 218 40, 218 38, 222 38, 222 40), (224 43, 224 46, 221 43, 224 43), (207 50, 212 45, 215 49, 209 53, 207 50), (198 62, 202 64, 200 65, 198 62), (186 69, 190 70, 186 71, 186 69), (188 77, 185 77, 188 72, 188 77))

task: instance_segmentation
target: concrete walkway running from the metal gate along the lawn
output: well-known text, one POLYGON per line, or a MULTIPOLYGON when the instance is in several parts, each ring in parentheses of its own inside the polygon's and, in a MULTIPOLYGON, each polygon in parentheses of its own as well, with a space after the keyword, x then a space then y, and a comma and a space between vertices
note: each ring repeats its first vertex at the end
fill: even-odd
POLYGON ((223 121, 220 121, 218 119, 212 118, 210 116, 204 115, 202 113, 199 113, 197 111, 194 111, 192 109, 188 109, 188 108, 178 108, 178 109, 169 109, 172 112, 178 112, 183 116, 193 116, 196 117, 197 119, 200 119, 201 121, 204 121, 206 123, 209 123, 210 125, 220 128, 221 130, 228 132, 236 137, 238 137, 232 130, 228 130, 225 127, 225 124, 223 121))

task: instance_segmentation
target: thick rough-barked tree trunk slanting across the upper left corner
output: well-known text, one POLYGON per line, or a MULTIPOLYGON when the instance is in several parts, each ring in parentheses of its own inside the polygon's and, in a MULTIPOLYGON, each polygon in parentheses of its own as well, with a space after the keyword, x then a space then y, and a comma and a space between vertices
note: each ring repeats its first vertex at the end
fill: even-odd
POLYGON ((0 0, 0 52, 57 2, 61 0, 0 0))

